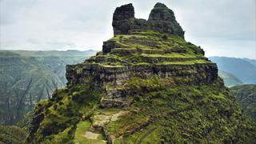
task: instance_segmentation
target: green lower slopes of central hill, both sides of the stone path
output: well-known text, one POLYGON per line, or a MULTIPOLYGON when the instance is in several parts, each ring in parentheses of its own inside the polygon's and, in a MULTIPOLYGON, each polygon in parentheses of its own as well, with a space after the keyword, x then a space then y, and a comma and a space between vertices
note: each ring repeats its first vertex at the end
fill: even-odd
MULTIPOLYGON (((127 90, 137 94, 126 110, 128 114, 103 126, 117 143, 251 142, 256 138, 254 124, 242 117, 234 96, 219 80, 213 85, 168 88, 164 84, 159 86, 164 82, 155 80, 133 78, 129 83, 127 90)), ((90 92, 88 87, 78 87, 75 92, 58 90, 54 99, 38 103, 36 110, 42 111, 46 118, 34 134, 34 142, 82 142, 92 124, 81 121, 82 115, 91 120, 94 115, 110 113, 111 110, 98 107, 99 92, 93 94, 95 91, 90 92)), ((104 131, 97 134, 104 138, 104 131)))

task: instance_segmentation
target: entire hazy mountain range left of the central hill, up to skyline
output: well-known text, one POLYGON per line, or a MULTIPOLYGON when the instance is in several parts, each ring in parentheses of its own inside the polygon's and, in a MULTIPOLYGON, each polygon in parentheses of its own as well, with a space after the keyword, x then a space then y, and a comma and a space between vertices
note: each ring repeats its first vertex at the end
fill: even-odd
POLYGON ((66 65, 96 51, 0 50, 0 123, 14 124, 34 103, 66 85, 66 65))

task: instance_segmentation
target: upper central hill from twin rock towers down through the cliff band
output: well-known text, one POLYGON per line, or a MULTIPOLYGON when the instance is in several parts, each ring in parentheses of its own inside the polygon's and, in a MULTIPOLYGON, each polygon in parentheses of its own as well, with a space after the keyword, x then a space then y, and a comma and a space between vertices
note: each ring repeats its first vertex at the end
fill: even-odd
POLYGON ((102 107, 130 105, 133 94, 119 88, 134 74, 142 79, 187 80, 174 85, 202 85, 218 78, 216 64, 203 57, 200 47, 184 40, 174 12, 162 3, 154 6, 147 21, 134 17, 132 4, 120 6, 114 11, 112 26, 114 38, 103 42, 102 53, 66 66, 68 86, 90 85, 104 91, 102 107))

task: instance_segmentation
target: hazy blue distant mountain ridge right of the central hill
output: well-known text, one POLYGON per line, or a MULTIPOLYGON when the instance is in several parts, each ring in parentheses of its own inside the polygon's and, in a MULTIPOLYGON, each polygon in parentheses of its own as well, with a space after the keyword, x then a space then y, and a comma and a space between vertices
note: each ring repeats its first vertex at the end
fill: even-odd
POLYGON ((233 74, 245 84, 256 83, 256 60, 248 58, 210 57, 217 63, 218 70, 233 74))

